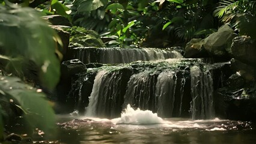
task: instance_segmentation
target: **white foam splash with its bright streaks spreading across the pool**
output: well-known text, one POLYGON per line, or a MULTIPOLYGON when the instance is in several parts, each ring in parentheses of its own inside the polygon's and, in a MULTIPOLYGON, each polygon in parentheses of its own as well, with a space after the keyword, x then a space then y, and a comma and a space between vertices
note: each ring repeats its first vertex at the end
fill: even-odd
MULTIPOLYGON (((120 118, 102 119, 102 118, 95 118, 95 117, 88 117, 88 116, 84 118, 92 119, 93 121, 96 121, 96 122, 104 122, 104 123, 111 122, 117 127, 119 127, 118 125, 129 124, 126 126, 126 128, 132 128, 132 129, 148 128, 153 126, 153 125, 150 126, 148 124, 156 124, 153 127, 178 128, 178 129, 204 128, 204 130, 206 131, 225 131, 226 129, 223 127, 210 128, 209 125, 204 123, 227 121, 227 120, 221 120, 218 118, 207 119, 207 120, 201 119, 201 120, 195 120, 195 121, 175 121, 175 120, 172 121, 171 119, 162 119, 159 116, 157 116, 157 113, 153 113, 150 110, 140 110, 139 108, 133 109, 130 106, 130 104, 128 104, 126 109, 124 109, 124 112, 121 113, 120 118)), ((121 127, 123 127, 123 125, 121 127)))

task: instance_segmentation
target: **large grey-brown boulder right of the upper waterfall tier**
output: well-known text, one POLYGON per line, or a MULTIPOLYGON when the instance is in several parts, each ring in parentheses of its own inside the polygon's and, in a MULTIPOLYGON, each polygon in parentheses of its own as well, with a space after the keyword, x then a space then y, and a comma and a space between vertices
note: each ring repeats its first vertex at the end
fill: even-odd
POLYGON ((217 32, 204 39, 204 48, 213 56, 225 56, 234 38, 234 30, 223 25, 217 32))

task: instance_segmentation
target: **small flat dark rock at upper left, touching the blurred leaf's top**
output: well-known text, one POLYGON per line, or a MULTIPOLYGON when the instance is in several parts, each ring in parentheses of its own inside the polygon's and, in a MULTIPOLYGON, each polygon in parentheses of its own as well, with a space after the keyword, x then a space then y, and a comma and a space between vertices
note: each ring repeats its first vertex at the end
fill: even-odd
POLYGON ((43 19, 48 20, 52 25, 72 26, 66 17, 60 15, 43 16, 43 19))

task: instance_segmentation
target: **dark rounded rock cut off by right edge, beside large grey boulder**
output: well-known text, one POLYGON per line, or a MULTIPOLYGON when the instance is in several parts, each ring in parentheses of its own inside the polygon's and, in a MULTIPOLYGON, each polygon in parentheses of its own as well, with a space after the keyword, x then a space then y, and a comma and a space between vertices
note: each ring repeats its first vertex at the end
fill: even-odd
POLYGON ((251 37, 240 36, 233 39, 231 55, 233 58, 256 68, 256 43, 251 37))

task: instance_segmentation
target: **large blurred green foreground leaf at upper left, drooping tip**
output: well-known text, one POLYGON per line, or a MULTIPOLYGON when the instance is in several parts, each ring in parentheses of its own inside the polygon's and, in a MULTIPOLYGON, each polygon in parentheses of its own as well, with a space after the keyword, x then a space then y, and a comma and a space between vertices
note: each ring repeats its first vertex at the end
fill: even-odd
POLYGON ((0 49, 2 55, 23 56, 33 61, 44 86, 53 89, 59 80, 59 59, 55 51, 58 35, 32 8, 10 9, 0 5, 0 49))

